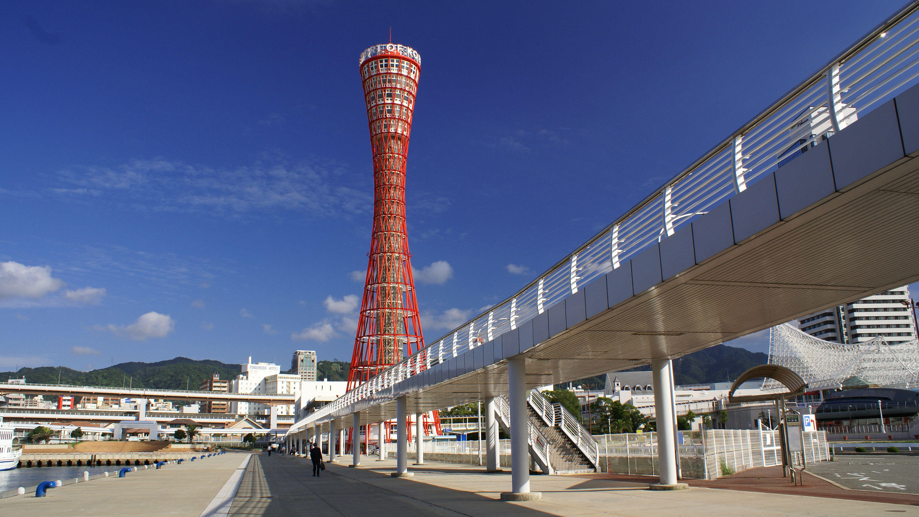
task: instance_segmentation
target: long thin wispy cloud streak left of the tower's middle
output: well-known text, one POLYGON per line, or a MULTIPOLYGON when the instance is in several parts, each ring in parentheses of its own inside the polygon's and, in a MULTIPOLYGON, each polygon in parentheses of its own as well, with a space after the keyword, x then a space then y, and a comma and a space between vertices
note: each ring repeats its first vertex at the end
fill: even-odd
POLYGON ((160 157, 61 170, 47 191, 62 200, 92 199, 130 210, 231 217, 286 210, 337 217, 368 213, 373 206, 372 195, 357 185, 357 173, 328 161, 220 168, 160 157), (74 196, 77 191, 92 196, 74 196))

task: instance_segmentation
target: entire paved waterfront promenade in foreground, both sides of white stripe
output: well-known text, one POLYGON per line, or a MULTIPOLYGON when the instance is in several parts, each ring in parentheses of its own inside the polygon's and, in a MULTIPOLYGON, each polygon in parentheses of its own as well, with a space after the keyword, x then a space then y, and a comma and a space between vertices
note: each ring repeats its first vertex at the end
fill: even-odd
MULTIPOLYGON (((170 515, 211 517, 217 500, 232 497, 231 481, 247 454, 230 453, 194 463, 139 470, 128 477, 108 477, 52 488, 48 497, 29 493, 0 500, 0 513, 17 517, 120 517, 170 515), (230 487, 230 488, 227 488, 230 487)), ((347 459, 350 459, 348 457, 347 459)), ((413 466, 414 477, 393 478, 395 461, 362 458, 363 465, 327 463, 312 477, 306 458, 253 454, 235 493, 223 511, 236 517, 311 517, 373 515, 481 517, 646 517, 838 516, 871 517, 898 513, 919 516, 919 496, 907 504, 841 500, 743 489, 704 488, 658 492, 647 489, 652 477, 613 479, 607 475, 533 476, 531 488, 542 499, 501 502, 510 474, 485 474, 474 465, 431 463, 413 466)), ((864 469, 864 468, 863 468, 864 469)), ((811 492, 812 493, 812 492, 811 492)))

